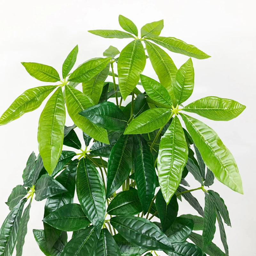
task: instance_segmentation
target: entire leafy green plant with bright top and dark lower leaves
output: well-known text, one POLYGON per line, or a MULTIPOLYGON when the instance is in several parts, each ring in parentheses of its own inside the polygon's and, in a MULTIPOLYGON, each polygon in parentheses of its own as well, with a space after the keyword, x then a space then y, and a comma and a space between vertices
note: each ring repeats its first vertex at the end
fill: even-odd
POLYGON ((23 185, 13 188, 6 202, 10 213, 0 230, 0 255, 12 255, 15 246, 16 255, 22 255, 34 194, 37 201, 46 199, 44 229, 33 230, 45 255, 228 255, 227 207, 205 187, 216 178, 243 193, 242 181, 216 132, 188 114, 228 121, 245 106, 214 96, 183 106, 194 88, 192 59, 177 68, 162 47, 197 59, 210 56, 177 38, 159 36, 163 20, 144 25, 141 38, 131 20, 120 15, 119 23, 126 32, 89 32, 132 39, 121 52, 110 46, 104 58, 87 60, 71 72, 76 46, 63 63, 62 79, 51 66, 22 62, 31 76, 58 84, 28 89, 0 118, 1 125, 7 124, 38 108, 52 93, 39 117, 39 155, 31 153, 23 185), (147 58, 159 81, 141 74, 147 58), (81 83, 82 92, 76 89, 81 83), (72 126, 65 126, 66 109, 72 126), (83 132, 83 143, 77 132, 83 132), (63 145, 73 150, 62 150, 63 145), (188 172, 198 188, 189 188, 188 172), (74 203, 75 190, 79 204, 74 203), (205 195, 204 209, 191 194, 195 190, 205 195), (200 216, 179 215, 182 198, 200 216), (225 252, 212 243, 216 220, 225 252), (202 235, 194 232, 198 230, 202 235), (73 232, 69 241, 67 232, 73 232))

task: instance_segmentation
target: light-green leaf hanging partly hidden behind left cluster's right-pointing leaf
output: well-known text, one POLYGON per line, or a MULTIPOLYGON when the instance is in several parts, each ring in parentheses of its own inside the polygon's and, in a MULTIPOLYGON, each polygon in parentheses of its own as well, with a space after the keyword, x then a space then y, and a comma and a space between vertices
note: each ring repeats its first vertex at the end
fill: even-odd
POLYGON ((108 63, 107 66, 100 71, 100 73, 82 84, 83 93, 91 98, 95 104, 97 104, 100 100, 104 82, 108 77, 109 66, 110 64, 108 63))

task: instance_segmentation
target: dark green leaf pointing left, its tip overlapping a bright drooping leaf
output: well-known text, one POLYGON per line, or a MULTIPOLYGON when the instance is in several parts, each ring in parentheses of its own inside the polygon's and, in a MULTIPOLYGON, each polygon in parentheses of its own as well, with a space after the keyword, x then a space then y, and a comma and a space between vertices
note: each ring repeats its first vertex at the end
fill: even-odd
POLYGON ((122 110, 113 102, 101 102, 84 109, 79 112, 79 115, 86 117, 93 124, 107 130, 124 130, 127 125, 126 117, 122 110))

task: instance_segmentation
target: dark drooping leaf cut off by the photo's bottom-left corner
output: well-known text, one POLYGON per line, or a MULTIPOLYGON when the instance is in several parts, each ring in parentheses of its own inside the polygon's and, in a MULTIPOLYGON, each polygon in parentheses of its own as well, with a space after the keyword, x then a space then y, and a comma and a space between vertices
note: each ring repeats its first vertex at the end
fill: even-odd
POLYGON ((0 254, 3 256, 12 255, 16 244, 21 214, 26 201, 27 199, 24 198, 12 209, 0 229, 0 254))

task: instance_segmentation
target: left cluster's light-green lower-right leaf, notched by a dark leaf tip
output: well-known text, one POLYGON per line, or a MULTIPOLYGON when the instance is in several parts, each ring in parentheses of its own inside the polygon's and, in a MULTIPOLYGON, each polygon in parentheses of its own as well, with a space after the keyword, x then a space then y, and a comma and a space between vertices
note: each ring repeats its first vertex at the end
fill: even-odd
POLYGON ((82 110, 92 107, 94 105, 93 101, 84 93, 69 85, 65 86, 65 95, 68 114, 76 126, 93 139, 108 144, 109 141, 107 131, 78 114, 82 110))

